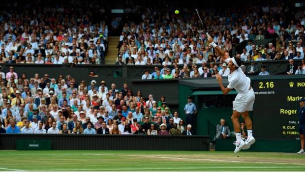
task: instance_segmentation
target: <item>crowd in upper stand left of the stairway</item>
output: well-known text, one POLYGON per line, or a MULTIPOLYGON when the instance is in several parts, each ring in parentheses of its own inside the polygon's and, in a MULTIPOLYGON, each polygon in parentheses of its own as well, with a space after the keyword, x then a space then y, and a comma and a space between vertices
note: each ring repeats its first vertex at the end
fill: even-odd
POLYGON ((95 17, 105 16, 102 8, 86 1, 62 6, 35 2, 7 3, 1 9, 0 63, 104 63, 108 26, 95 17))

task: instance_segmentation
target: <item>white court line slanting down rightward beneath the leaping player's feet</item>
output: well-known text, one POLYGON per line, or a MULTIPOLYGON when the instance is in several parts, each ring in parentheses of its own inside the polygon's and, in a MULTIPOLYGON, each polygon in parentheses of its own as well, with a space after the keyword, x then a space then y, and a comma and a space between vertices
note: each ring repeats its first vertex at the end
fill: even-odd
POLYGON ((162 157, 162 156, 143 156, 143 155, 118 155, 118 154, 98 154, 88 153, 85 155, 110 155, 110 156, 134 156, 134 157, 151 157, 163 159, 179 159, 179 160, 199 160, 199 161, 214 161, 214 162, 229 162, 229 163, 264 163, 264 164, 286 164, 286 165, 305 165, 300 163, 277 163, 277 162, 252 162, 252 161, 234 161, 234 160, 219 160, 219 159, 197 159, 197 158, 177 158, 177 157, 162 157))

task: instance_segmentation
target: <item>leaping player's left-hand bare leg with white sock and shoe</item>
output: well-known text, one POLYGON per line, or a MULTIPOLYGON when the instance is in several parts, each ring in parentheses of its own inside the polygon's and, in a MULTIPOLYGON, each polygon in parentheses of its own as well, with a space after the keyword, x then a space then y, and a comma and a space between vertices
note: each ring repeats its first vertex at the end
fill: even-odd
POLYGON ((241 124, 239 121, 240 115, 241 113, 237 112, 236 110, 233 110, 233 114, 231 116, 232 123, 234 126, 235 136, 236 136, 236 142, 235 142, 236 148, 234 150, 234 153, 237 153, 240 150, 242 150, 245 144, 241 136, 241 124))

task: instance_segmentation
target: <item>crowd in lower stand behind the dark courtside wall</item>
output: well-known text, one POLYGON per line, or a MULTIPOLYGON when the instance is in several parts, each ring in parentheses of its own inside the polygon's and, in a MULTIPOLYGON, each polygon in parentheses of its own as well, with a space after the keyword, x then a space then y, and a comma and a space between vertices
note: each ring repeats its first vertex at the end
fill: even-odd
POLYGON ((28 79, 12 66, 0 73, 0 110, 1 133, 189 135, 185 130, 191 131, 164 96, 155 101, 150 94, 146 100, 126 83, 120 89, 105 81, 76 82, 69 75, 56 79, 35 74, 28 79))

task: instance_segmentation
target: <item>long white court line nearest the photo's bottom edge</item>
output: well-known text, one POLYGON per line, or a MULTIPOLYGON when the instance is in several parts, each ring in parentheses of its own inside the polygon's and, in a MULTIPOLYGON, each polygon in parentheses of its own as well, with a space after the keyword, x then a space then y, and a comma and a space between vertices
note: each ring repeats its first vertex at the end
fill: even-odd
MULTIPOLYGON (((122 170, 179 170, 179 169, 279 169, 279 168, 284 168, 284 169, 295 169, 295 168, 304 168, 304 167, 177 167, 177 168, 124 168, 124 169, 55 169, 55 170, 39 170, 42 172, 51 172, 51 171, 122 171, 122 170)), ((29 171, 29 172, 35 172, 35 171, 29 171)))

